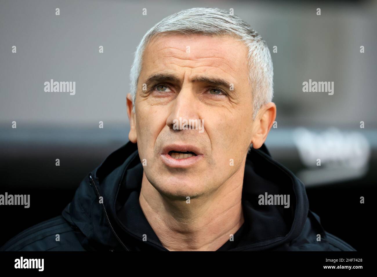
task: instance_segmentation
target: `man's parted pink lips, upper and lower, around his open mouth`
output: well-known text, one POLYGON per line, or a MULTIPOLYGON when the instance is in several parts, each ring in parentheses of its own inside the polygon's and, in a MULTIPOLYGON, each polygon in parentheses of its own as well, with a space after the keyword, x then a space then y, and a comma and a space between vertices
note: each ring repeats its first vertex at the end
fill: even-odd
POLYGON ((173 168, 186 168, 190 167, 196 162, 199 162, 203 158, 203 154, 201 150, 196 147, 195 145, 191 144, 169 144, 162 148, 162 152, 160 154, 160 157, 164 164, 166 164, 168 167, 173 168), (175 159, 172 156, 169 155, 169 152, 172 150, 176 150, 179 152, 194 152, 196 156, 192 156, 185 159, 175 159))

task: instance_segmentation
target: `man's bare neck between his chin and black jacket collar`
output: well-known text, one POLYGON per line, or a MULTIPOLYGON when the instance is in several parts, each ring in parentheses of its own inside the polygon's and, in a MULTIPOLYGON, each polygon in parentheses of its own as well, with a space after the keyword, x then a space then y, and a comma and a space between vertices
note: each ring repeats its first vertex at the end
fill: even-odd
POLYGON ((210 195, 187 204, 159 193, 143 173, 139 202, 162 245, 170 251, 216 251, 244 223, 245 162, 210 195))

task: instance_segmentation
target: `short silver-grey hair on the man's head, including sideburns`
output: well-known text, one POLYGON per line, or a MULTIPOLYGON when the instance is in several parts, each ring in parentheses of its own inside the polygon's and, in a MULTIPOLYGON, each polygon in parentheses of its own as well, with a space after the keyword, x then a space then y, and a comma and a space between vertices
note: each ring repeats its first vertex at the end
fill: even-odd
POLYGON ((230 35, 248 47, 248 81, 253 91, 253 119, 273 98, 273 65, 270 50, 262 37, 245 21, 218 8, 192 8, 162 19, 144 35, 135 52, 130 72, 133 112, 143 53, 155 35, 162 32, 181 34, 230 35))

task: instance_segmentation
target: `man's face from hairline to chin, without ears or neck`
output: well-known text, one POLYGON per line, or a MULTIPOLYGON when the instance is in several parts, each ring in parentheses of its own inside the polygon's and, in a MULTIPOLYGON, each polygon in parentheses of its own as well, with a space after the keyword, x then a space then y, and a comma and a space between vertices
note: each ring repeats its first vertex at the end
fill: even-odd
POLYGON ((144 173, 160 193, 208 194, 240 169, 253 123, 247 52, 231 37, 166 33, 147 45, 131 132, 144 173), (198 120, 201 130, 184 129, 195 128, 184 119, 198 120), (186 151, 193 153, 179 155, 186 151))

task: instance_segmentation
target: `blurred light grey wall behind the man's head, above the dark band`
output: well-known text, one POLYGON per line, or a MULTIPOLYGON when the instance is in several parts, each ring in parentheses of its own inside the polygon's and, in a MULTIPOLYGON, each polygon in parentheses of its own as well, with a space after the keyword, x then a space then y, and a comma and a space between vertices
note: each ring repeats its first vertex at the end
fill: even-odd
POLYGON ((167 15, 192 7, 239 15, 267 41, 279 127, 377 127, 375 2, 20 1, 0 2, 0 122, 87 127, 128 122, 133 52, 167 15), (60 15, 55 15, 60 8, 60 15), (142 15, 142 9, 147 15, 142 15), (316 9, 321 8, 321 15, 316 9), (12 53, 12 46, 17 53, 12 53), (104 53, 98 47, 104 46, 104 53), (360 53, 360 46, 365 53, 360 53), (75 81, 76 94, 44 92, 75 81), (334 95, 303 93, 302 82, 334 81, 334 95))

